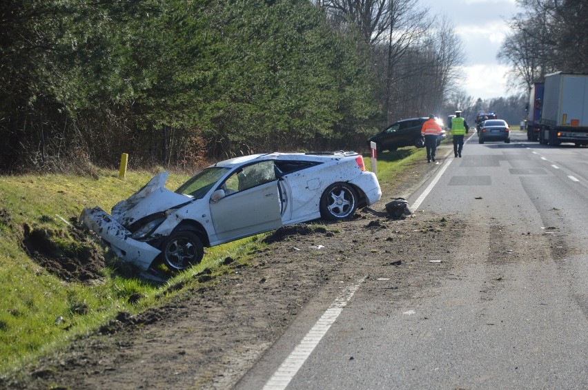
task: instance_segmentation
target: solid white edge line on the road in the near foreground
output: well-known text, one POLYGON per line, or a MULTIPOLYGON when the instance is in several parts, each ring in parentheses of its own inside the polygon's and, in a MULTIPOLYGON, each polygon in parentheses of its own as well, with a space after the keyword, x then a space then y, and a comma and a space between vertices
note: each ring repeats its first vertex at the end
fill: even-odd
POLYGON ((306 336, 302 339, 295 349, 290 353, 288 358, 282 362, 282 365, 273 373, 273 376, 267 381, 264 386, 264 390, 277 390, 286 389, 290 384, 292 378, 296 375, 300 367, 304 365, 308 356, 318 345, 320 340, 329 331, 331 325, 335 323, 337 317, 343 311, 343 308, 347 305, 347 302, 351 300, 355 291, 360 288, 360 285, 364 283, 366 276, 361 278, 355 283, 355 285, 347 286, 342 291, 340 296, 335 299, 335 302, 331 304, 329 309, 326 309, 321 318, 315 323, 311 330, 306 333, 306 336))

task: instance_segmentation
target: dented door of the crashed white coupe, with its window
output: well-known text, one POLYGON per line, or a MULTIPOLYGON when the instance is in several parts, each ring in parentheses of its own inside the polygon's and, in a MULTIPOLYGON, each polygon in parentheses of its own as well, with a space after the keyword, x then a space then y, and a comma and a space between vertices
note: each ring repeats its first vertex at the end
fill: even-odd
POLYGON ((210 203, 217 240, 227 242, 282 226, 273 161, 236 170, 221 188, 225 196, 210 203))

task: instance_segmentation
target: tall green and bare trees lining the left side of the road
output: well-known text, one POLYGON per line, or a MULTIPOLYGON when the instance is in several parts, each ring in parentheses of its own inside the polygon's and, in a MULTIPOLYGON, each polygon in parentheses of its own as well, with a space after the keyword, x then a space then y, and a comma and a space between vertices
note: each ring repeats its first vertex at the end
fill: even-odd
POLYGON ((442 110, 458 43, 418 0, 5 0, 0 172, 361 149, 442 110))

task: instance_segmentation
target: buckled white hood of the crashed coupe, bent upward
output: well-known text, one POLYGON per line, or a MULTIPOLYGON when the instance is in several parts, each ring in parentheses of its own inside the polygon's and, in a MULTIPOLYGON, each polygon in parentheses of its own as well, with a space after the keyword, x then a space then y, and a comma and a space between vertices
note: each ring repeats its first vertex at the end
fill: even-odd
POLYGON ((153 176, 139 191, 112 207, 112 218, 128 226, 145 216, 190 203, 192 198, 166 189, 168 176, 169 172, 153 176))

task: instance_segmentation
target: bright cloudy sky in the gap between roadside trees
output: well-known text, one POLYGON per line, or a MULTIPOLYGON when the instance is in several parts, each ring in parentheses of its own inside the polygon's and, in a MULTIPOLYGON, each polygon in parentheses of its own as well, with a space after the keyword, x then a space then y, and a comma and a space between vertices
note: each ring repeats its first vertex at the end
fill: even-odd
POLYGON ((514 0, 420 0, 431 14, 446 15, 467 54, 463 88, 474 99, 509 96, 506 65, 496 54, 509 32, 506 21, 520 12, 514 0))

